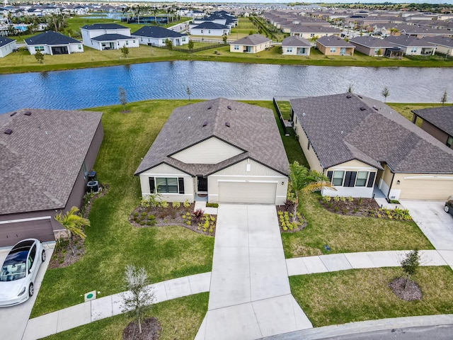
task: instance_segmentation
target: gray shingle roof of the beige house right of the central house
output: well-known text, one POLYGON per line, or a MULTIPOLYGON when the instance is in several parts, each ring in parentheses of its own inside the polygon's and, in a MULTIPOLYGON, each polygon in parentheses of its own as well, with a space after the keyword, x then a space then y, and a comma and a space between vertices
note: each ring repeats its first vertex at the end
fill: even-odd
POLYGON ((289 103, 324 169, 358 159, 394 172, 453 173, 453 150, 382 101, 337 94, 289 103))

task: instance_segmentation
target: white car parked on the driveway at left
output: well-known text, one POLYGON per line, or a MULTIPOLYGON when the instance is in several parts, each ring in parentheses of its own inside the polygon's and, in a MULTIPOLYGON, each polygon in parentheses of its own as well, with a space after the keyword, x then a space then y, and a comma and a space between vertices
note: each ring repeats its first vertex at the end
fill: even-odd
POLYGON ((9 251, 0 272, 0 307, 18 305, 35 293, 35 278, 45 249, 38 239, 24 239, 9 251))

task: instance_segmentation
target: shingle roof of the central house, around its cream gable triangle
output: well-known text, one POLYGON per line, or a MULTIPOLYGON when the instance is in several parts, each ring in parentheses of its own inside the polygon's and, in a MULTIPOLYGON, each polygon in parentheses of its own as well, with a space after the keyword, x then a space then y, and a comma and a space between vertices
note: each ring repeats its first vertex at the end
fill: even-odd
POLYGON ((192 176, 209 175, 248 158, 281 174, 288 174, 288 159, 273 111, 217 98, 175 108, 135 175, 162 163, 192 176), (171 157, 211 137, 244 152, 218 164, 186 164, 171 157))

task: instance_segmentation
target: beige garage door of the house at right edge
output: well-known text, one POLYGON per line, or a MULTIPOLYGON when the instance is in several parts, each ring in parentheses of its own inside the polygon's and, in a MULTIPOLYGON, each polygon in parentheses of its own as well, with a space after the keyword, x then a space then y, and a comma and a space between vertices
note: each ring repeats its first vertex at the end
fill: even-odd
POLYGON ((400 199, 447 200, 453 195, 453 181, 441 179, 406 179, 400 199))

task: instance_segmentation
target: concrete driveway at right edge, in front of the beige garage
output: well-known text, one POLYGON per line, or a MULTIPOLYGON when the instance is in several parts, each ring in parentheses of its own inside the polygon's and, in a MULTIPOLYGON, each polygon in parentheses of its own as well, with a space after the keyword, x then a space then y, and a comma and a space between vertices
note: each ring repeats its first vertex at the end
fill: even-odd
POLYGON ((413 220, 437 250, 453 250, 453 216, 444 211, 444 202, 400 200, 413 220))

